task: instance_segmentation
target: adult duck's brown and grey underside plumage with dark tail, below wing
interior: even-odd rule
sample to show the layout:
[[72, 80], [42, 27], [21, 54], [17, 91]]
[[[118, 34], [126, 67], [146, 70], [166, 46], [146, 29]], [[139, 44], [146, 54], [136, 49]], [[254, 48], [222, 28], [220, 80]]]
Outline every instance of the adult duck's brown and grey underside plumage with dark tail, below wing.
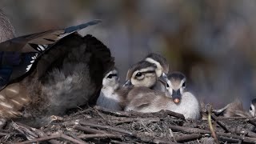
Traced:
[[113, 66], [110, 50], [97, 38], [70, 34], [46, 50], [29, 73], [0, 91], [0, 117], [22, 116], [19, 121], [41, 126], [52, 114], [94, 105], [103, 75]]

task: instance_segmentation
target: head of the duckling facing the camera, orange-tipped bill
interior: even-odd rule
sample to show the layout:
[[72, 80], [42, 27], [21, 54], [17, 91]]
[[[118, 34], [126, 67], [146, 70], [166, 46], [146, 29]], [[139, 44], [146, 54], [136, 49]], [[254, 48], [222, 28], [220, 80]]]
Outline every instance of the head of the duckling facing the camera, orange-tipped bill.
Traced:
[[166, 95], [170, 96], [175, 103], [179, 103], [186, 89], [186, 76], [180, 72], [173, 72], [168, 74], [167, 78]]

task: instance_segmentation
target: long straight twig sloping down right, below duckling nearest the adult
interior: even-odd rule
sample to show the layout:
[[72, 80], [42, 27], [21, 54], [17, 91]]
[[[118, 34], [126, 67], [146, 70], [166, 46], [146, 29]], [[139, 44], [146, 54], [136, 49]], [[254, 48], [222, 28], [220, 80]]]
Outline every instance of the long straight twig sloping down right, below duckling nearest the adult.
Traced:
[[114, 131], [117, 131], [119, 133], [129, 134], [130, 136], [135, 136], [136, 135], [136, 134], [133, 134], [130, 131], [118, 129], [118, 128], [115, 128], [115, 127], [112, 127], [112, 126], [102, 126], [102, 125], [96, 125], [96, 124], [88, 123], [88, 122], [79, 122], [79, 123], [81, 125], [84, 125], [84, 126], [92, 126], [92, 127], [102, 128], [102, 129], [114, 130]]

